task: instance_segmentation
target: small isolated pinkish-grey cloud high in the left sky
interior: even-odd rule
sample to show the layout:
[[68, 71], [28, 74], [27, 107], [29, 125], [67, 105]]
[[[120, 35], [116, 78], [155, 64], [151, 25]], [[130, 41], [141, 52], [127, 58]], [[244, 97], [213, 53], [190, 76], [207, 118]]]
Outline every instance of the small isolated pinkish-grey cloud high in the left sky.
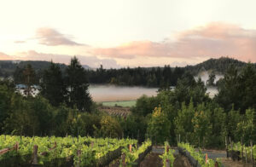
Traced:
[[39, 40], [40, 44], [47, 46], [57, 46], [57, 45], [85, 45], [81, 43], [76, 43], [72, 41], [67, 35], [57, 32], [55, 29], [42, 27], [36, 32], [36, 38]]

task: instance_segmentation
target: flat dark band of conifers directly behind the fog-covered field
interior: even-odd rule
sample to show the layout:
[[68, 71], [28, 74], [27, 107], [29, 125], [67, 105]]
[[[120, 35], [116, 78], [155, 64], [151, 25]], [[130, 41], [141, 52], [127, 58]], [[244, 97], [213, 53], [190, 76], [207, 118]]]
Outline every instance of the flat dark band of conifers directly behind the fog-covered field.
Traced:
[[152, 68], [121, 68], [88, 70], [90, 83], [110, 83], [127, 86], [148, 86], [168, 88], [175, 86], [177, 78], [180, 78], [184, 70], [181, 67], [172, 68], [171, 66], [152, 67]]

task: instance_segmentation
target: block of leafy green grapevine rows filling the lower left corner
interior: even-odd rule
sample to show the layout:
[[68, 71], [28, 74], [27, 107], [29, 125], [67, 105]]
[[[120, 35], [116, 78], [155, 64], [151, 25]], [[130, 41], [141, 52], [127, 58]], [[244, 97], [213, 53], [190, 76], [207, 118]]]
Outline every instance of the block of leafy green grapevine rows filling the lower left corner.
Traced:
[[[137, 147], [131, 139], [91, 137], [24, 137], [0, 135], [1, 166], [105, 166], [114, 159], [136, 164], [150, 151], [151, 141]], [[129, 149], [130, 150], [129, 150]], [[145, 156], [144, 155], [144, 156]], [[121, 159], [122, 160], [122, 159]]]

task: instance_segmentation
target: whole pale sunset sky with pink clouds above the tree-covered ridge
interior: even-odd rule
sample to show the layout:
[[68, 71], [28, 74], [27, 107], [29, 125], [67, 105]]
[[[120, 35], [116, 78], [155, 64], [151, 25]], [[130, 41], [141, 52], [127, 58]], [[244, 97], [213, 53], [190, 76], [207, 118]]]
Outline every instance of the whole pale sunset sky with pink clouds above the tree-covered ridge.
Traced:
[[255, 0], [0, 0], [0, 60], [91, 67], [256, 62]]

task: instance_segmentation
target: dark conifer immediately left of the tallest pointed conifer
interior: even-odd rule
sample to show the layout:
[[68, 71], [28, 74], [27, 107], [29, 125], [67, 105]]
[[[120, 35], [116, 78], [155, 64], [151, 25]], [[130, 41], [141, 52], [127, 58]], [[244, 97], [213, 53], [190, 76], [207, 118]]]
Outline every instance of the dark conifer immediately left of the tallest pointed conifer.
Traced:
[[44, 70], [41, 88], [41, 94], [53, 106], [59, 106], [64, 102], [66, 91], [60, 66], [53, 62], [50, 63], [49, 68]]

